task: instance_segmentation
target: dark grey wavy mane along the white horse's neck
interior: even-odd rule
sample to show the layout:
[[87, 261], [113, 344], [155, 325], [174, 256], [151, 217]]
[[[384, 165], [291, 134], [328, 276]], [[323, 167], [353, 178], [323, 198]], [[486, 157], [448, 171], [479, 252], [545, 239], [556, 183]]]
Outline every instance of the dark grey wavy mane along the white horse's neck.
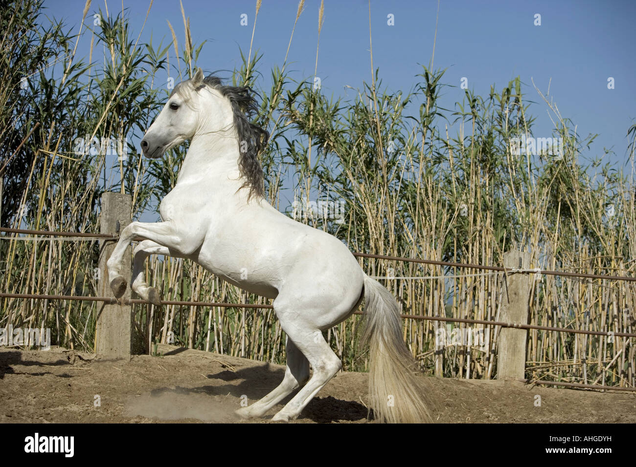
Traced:
[[245, 179], [242, 188], [249, 188], [247, 200], [252, 196], [263, 198], [263, 168], [258, 155], [265, 148], [270, 134], [250, 121], [252, 115], [258, 113], [252, 89], [249, 86], [224, 86], [220, 78], [212, 75], [204, 78], [203, 82], [230, 100], [240, 151], [239, 170]]

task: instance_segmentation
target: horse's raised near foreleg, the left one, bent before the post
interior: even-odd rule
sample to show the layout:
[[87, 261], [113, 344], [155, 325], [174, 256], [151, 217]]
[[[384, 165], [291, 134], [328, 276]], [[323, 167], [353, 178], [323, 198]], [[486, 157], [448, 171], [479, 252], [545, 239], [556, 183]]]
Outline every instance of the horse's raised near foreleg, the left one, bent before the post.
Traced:
[[151, 240], [153, 243], [169, 248], [172, 256], [190, 254], [198, 247], [193, 244], [193, 238], [186, 238], [183, 233], [177, 231], [172, 222], [130, 222], [121, 231], [120, 240], [106, 262], [110, 285], [117, 298], [126, 291], [127, 284], [121, 276], [121, 260], [126, 248], [133, 240]]

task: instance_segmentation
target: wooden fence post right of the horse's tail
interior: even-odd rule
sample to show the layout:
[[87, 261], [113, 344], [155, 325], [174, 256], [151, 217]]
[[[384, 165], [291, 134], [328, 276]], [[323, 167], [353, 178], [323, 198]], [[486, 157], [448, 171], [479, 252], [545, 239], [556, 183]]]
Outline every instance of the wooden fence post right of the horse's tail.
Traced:
[[[504, 267], [528, 269], [530, 253], [511, 251], [504, 254]], [[501, 318], [505, 323], [528, 324], [532, 274], [508, 274], [504, 281]], [[527, 329], [504, 328], [499, 331], [497, 379], [519, 379], [525, 376]]]

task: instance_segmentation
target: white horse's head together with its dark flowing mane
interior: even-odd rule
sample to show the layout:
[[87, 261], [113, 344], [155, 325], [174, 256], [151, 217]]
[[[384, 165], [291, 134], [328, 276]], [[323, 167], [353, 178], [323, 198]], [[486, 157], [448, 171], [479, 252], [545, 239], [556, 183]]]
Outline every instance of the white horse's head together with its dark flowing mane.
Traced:
[[204, 78], [199, 68], [193, 78], [174, 87], [168, 102], [141, 140], [141, 149], [144, 156], [156, 159], [195, 135], [233, 137], [239, 148], [244, 186], [249, 187], [250, 196], [262, 196], [263, 169], [258, 154], [269, 134], [249, 121], [248, 116], [257, 109], [250, 88], [223, 86], [216, 76]]

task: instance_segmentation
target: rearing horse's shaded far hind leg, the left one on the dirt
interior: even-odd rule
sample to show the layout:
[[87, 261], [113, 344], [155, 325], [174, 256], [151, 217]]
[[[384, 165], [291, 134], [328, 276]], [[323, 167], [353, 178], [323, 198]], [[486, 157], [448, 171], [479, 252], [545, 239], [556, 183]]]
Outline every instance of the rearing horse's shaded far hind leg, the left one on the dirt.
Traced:
[[309, 362], [289, 337], [286, 344], [287, 368], [282, 382], [271, 393], [249, 407], [236, 410], [236, 414], [244, 417], [262, 417], [274, 405], [284, 399], [291, 391], [302, 386], [309, 379]]

